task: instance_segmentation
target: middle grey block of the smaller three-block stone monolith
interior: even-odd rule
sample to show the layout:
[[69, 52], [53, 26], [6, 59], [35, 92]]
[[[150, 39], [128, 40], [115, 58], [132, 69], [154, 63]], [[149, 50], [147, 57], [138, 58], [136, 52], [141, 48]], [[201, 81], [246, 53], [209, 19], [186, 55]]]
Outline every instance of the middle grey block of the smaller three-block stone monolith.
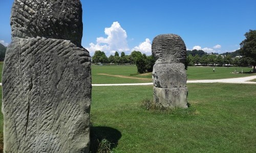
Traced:
[[158, 88], [185, 88], [187, 75], [183, 63], [155, 64], [153, 83]]

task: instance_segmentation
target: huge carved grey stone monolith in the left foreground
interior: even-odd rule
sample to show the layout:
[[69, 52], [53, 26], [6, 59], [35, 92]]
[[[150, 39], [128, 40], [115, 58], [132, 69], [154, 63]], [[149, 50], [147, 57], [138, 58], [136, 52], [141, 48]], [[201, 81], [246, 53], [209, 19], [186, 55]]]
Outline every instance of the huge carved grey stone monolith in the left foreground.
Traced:
[[79, 0], [15, 0], [3, 70], [4, 152], [89, 152], [91, 57]]

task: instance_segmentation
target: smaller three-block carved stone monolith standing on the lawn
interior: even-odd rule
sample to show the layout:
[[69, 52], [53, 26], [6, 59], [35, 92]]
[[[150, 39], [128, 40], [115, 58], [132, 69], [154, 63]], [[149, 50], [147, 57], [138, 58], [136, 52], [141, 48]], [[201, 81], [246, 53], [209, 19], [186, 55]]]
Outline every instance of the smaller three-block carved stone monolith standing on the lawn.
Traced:
[[154, 102], [163, 108], [187, 108], [186, 46], [180, 36], [159, 35], [152, 43], [156, 59], [152, 78]]

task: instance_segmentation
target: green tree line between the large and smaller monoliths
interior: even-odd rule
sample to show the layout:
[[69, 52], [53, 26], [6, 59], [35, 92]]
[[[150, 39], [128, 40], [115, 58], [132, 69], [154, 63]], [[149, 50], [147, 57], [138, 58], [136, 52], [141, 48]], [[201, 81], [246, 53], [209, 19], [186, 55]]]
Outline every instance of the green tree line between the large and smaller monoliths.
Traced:
[[134, 50], [131, 55], [125, 55], [124, 52], [119, 56], [118, 52], [115, 55], [110, 55], [106, 57], [105, 53], [97, 50], [92, 57], [92, 62], [95, 64], [135, 64], [139, 73], [152, 72], [153, 66], [155, 64], [155, 59], [153, 55], [146, 56], [139, 51]]

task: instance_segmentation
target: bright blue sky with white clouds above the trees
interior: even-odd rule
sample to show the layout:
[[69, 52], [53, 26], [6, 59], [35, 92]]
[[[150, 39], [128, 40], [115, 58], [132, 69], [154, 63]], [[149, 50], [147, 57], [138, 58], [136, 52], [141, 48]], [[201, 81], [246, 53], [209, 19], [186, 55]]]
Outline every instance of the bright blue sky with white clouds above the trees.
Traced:
[[[13, 1], [0, 0], [0, 42], [11, 42]], [[93, 56], [101, 50], [129, 55], [133, 50], [151, 55], [159, 34], [178, 34], [187, 49], [225, 53], [239, 48], [244, 34], [256, 29], [255, 0], [81, 0], [82, 46]]]

